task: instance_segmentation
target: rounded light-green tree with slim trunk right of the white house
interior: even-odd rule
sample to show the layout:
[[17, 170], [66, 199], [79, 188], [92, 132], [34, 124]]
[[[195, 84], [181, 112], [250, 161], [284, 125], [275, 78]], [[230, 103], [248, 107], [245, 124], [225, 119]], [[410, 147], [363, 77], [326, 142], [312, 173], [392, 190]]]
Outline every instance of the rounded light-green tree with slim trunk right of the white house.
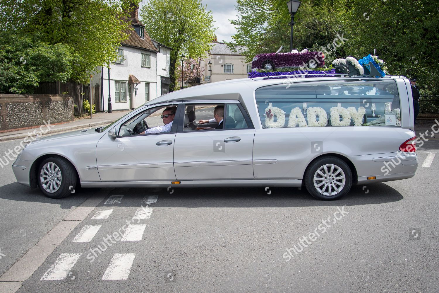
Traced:
[[150, 0], [140, 11], [149, 35], [173, 48], [170, 54], [171, 90], [176, 84], [176, 65], [183, 53], [186, 58], [205, 57], [215, 29], [212, 11], [201, 0]]

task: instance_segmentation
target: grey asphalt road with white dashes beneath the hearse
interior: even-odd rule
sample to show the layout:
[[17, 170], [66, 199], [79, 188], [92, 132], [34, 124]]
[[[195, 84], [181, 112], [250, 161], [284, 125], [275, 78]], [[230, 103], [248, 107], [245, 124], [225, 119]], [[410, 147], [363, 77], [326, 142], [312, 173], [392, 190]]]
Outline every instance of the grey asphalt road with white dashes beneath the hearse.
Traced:
[[[0, 152], [18, 143], [2, 142]], [[439, 160], [421, 166], [438, 140], [417, 152], [415, 177], [355, 186], [331, 202], [297, 188], [83, 188], [55, 200], [16, 183], [8, 165], [0, 168], [0, 275], [101, 192], [17, 292], [438, 292]], [[146, 204], [130, 235], [106, 245], [103, 237], [117, 236]], [[92, 218], [103, 211], [108, 218]], [[316, 230], [287, 262], [287, 248]]]

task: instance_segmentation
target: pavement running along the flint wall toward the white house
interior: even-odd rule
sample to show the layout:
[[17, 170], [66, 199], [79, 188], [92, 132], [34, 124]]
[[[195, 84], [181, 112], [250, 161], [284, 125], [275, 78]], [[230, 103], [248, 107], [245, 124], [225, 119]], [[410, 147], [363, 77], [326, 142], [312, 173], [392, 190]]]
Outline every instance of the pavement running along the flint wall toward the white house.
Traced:
[[5, 132], [0, 134], [0, 141], [11, 141], [14, 139], [21, 139], [21, 138], [29, 137], [31, 136], [30, 134], [33, 133], [38, 133], [41, 135], [49, 135], [59, 132], [66, 132], [70, 130], [78, 130], [83, 128], [108, 125], [129, 112], [131, 111], [129, 110], [129, 111], [113, 111], [112, 113], [96, 113], [93, 114], [93, 118], [90, 117], [76, 118], [75, 121], [72, 122], [57, 124], [54, 125], [53, 127], [50, 126], [50, 130], [43, 124], [42, 129], [44, 131], [47, 131], [45, 134], [41, 134], [40, 126], [35, 128], [25, 129], [25, 130]]

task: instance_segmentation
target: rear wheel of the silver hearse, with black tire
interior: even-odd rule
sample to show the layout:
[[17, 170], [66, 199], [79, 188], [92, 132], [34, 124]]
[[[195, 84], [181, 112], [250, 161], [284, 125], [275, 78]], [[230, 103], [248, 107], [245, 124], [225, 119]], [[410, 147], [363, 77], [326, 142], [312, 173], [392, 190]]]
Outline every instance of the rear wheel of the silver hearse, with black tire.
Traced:
[[[326, 170], [324, 166], [326, 166]], [[331, 169], [331, 166], [335, 167]], [[320, 173], [317, 170], [320, 170]], [[314, 178], [319, 178], [319, 180], [314, 180]], [[316, 199], [341, 199], [352, 187], [352, 171], [342, 159], [335, 156], [323, 156], [311, 163], [306, 169], [305, 186], [309, 194]]]

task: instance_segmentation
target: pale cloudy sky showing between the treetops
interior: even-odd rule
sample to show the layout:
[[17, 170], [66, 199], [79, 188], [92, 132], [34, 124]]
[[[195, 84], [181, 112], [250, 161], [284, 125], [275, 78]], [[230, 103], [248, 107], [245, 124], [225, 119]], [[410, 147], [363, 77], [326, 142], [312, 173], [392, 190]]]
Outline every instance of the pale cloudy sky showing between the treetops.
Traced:
[[[147, 2], [148, 0], [142, 0], [140, 8]], [[216, 29], [217, 40], [230, 42], [232, 35], [236, 33], [236, 29], [229, 22], [229, 19], [237, 19], [236, 0], [202, 0], [202, 4], [207, 5], [207, 11], [212, 11], [214, 27], [218, 28]]]

